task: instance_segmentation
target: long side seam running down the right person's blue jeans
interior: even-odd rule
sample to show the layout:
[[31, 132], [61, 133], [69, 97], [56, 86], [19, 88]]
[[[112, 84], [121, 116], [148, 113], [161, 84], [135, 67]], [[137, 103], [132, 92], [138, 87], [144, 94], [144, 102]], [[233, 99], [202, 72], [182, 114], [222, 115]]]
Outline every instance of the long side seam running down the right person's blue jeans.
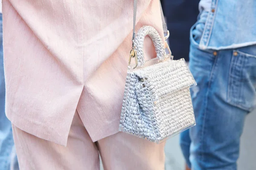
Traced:
[[[213, 65], [212, 65], [212, 70], [211, 70], [211, 73], [209, 75], [209, 82], [208, 82], [208, 88], [207, 88], [207, 92], [206, 92], [206, 96], [205, 96], [205, 108], [204, 108], [204, 120], [203, 120], [203, 125], [202, 125], [202, 132], [201, 132], [201, 149], [204, 150], [204, 144], [203, 144], [203, 139], [204, 139], [204, 127], [205, 127], [205, 120], [206, 120], [206, 116], [207, 116], [207, 108], [208, 108], [208, 100], [209, 100], [209, 91], [210, 91], [210, 87], [212, 85], [212, 77], [214, 75], [214, 70], [215, 68], [217, 67], [217, 60], [218, 60], [218, 55], [215, 56], [215, 59], [214, 59], [214, 62], [213, 62]], [[201, 153], [201, 160], [200, 161], [203, 161], [204, 159], [204, 154]]]

